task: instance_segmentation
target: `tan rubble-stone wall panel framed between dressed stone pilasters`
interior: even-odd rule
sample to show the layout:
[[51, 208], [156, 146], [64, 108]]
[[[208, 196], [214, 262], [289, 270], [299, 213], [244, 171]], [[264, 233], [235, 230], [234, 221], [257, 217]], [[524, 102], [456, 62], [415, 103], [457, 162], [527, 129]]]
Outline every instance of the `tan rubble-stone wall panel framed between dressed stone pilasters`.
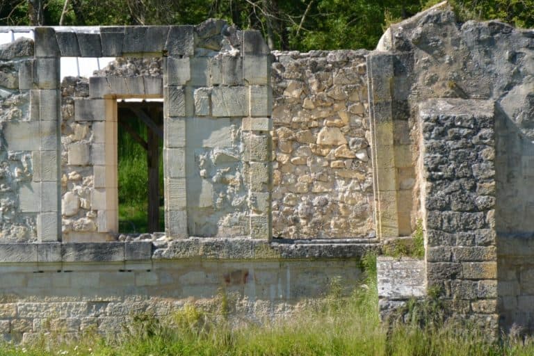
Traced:
[[366, 52], [274, 54], [273, 236], [374, 236]]

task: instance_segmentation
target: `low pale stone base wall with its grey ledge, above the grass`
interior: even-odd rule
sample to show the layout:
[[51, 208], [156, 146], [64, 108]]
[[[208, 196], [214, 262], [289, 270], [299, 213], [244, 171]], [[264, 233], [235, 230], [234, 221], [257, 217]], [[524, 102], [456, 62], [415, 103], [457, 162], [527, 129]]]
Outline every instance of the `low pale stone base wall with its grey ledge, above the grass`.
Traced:
[[187, 303], [218, 310], [223, 294], [241, 320], [290, 316], [334, 279], [350, 293], [362, 273], [357, 256], [373, 250], [232, 238], [0, 247], [0, 337], [24, 342], [121, 332], [135, 315], [164, 318]]

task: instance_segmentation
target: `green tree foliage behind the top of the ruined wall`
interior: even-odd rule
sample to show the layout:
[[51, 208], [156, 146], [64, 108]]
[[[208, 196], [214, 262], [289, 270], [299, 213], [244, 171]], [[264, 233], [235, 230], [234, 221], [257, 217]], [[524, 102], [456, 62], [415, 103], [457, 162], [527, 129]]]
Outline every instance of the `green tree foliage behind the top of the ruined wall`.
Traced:
[[[65, 1], [67, 1], [65, 5]], [[421, 2], [423, 1], [423, 2]], [[259, 29], [273, 49], [372, 49], [383, 29], [437, 0], [0, 0], [0, 25], [197, 24]], [[534, 26], [534, 0], [451, 0], [459, 18]]]

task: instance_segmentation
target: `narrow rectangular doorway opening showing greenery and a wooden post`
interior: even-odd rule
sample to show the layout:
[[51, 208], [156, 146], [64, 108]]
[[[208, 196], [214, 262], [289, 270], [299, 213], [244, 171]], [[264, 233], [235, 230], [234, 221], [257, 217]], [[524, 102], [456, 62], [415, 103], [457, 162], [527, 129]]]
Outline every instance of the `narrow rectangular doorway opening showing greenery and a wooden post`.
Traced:
[[117, 112], [119, 232], [163, 232], [163, 102], [119, 100]]

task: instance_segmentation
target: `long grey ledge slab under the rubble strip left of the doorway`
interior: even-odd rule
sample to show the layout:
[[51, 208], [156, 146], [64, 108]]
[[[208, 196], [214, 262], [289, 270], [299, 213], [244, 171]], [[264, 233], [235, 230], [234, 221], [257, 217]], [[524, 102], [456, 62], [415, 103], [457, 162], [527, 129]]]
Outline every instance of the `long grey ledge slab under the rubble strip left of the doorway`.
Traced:
[[124, 261], [124, 243], [63, 243], [61, 259], [64, 262]]

